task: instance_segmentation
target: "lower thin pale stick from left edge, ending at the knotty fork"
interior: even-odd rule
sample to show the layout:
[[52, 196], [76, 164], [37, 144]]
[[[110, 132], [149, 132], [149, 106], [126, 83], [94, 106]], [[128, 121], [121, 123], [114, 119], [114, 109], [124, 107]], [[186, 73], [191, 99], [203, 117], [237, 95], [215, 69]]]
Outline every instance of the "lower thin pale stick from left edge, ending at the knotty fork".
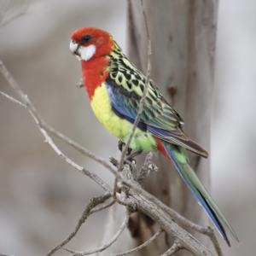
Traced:
[[69, 165], [73, 166], [76, 170], [78, 170], [79, 172], [82, 172], [83, 174], [85, 174], [86, 176], [90, 177], [92, 180], [94, 180], [98, 185], [100, 185], [102, 187], [102, 189], [104, 189], [105, 191], [107, 191], [108, 193], [112, 194], [112, 189], [108, 186], [107, 183], [104, 183], [102, 181], [102, 179], [100, 177], [98, 177], [95, 173], [93, 172], [89, 172], [88, 170], [86, 170], [84, 167], [79, 166], [78, 164], [74, 163], [73, 160], [70, 160], [65, 154], [63, 154], [61, 152], [61, 150], [55, 145], [55, 143], [53, 143], [52, 139], [49, 137], [49, 135], [47, 134], [47, 132], [44, 130], [44, 128], [40, 125], [40, 122], [38, 120], [38, 118], [36, 117], [36, 115], [32, 112], [32, 109], [27, 107], [25, 104], [15, 100], [15, 98], [3, 93], [2, 91], [0, 91], [0, 94], [2, 96], [7, 97], [11, 102], [15, 102], [16, 104], [18, 104], [20, 107], [26, 108], [26, 110], [31, 113], [32, 118], [35, 120], [36, 124], [38, 125], [39, 130], [43, 133], [44, 138], [45, 138], [45, 142], [49, 143], [49, 145], [51, 146], [51, 148], [53, 148], [55, 150], [55, 153], [58, 154], [62, 160], [65, 160]]

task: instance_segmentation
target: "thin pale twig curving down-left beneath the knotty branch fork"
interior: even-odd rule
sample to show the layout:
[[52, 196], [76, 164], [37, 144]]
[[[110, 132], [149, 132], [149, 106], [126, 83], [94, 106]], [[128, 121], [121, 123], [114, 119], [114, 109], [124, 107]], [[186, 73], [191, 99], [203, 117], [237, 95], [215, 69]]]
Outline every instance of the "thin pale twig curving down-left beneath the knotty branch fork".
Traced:
[[96, 248], [96, 249], [93, 249], [93, 250], [90, 250], [90, 251], [86, 251], [86, 252], [73, 252], [71, 250], [68, 250], [68, 252], [73, 253], [72, 256], [84, 256], [84, 255], [104, 251], [105, 249], [110, 247], [113, 244], [113, 242], [116, 241], [119, 238], [119, 236], [123, 233], [123, 231], [125, 230], [125, 227], [128, 224], [128, 220], [129, 220], [129, 214], [126, 213], [125, 214], [125, 219], [124, 219], [123, 223], [121, 224], [121, 226], [119, 227], [119, 230], [117, 231], [117, 233], [112, 237], [112, 239], [110, 241], [108, 241], [102, 247], [99, 247], [99, 248]]

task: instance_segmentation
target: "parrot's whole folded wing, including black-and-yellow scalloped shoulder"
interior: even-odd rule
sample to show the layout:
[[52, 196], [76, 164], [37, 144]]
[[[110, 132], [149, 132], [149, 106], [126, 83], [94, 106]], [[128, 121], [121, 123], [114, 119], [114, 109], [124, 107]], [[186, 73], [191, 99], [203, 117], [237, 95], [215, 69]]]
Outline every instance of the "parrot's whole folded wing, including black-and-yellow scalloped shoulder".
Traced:
[[[111, 98], [113, 111], [119, 117], [134, 123], [143, 96], [145, 77], [136, 69], [127, 68], [127, 63], [125, 65], [125, 68], [113, 68], [105, 84]], [[151, 79], [148, 85], [138, 127], [166, 142], [183, 146], [195, 154], [207, 157], [207, 151], [191, 141], [183, 132], [183, 119], [166, 102], [166, 99], [160, 94], [160, 90]]]

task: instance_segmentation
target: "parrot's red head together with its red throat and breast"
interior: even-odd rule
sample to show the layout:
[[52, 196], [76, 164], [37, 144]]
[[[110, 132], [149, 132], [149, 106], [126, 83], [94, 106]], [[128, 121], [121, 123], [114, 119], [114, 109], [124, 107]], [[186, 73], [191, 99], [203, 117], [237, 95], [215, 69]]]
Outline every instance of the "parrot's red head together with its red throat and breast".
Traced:
[[82, 64], [84, 86], [90, 100], [98, 86], [108, 78], [109, 55], [114, 48], [108, 32], [95, 27], [82, 27], [73, 32], [70, 50]]

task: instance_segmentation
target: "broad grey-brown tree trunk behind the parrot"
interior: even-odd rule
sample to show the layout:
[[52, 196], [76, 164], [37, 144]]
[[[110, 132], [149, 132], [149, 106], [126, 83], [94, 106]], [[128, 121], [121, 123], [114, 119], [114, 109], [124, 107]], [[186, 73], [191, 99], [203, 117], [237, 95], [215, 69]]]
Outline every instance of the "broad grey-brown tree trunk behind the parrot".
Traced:
[[[209, 150], [218, 1], [144, 0], [144, 5], [152, 43], [150, 77], [183, 118], [184, 131]], [[146, 73], [147, 67], [147, 44], [141, 3], [129, 0], [127, 55], [143, 73]], [[189, 154], [189, 159], [201, 182], [209, 188], [210, 160], [195, 154]], [[143, 160], [141, 157], [139, 161]], [[154, 163], [160, 171], [150, 174], [144, 188], [184, 217], [205, 226], [208, 223], [206, 212], [196, 203], [175, 167], [160, 154]], [[124, 216], [122, 211], [116, 206], [109, 212], [107, 222], [113, 219], [113, 214]], [[112, 223], [105, 230], [102, 242], [110, 239], [118, 229], [120, 223]], [[158, 228], [146, 216], [133, 213], [129, 229], [132, 237], [126, 232], [102, 255], [137, 247]], [[204, 236], [189, 231], [204, 244], [207, 243]], [[171, 245], [171, 237], [160, 236], [142, 251], [130, 255], [160, 255]]]

